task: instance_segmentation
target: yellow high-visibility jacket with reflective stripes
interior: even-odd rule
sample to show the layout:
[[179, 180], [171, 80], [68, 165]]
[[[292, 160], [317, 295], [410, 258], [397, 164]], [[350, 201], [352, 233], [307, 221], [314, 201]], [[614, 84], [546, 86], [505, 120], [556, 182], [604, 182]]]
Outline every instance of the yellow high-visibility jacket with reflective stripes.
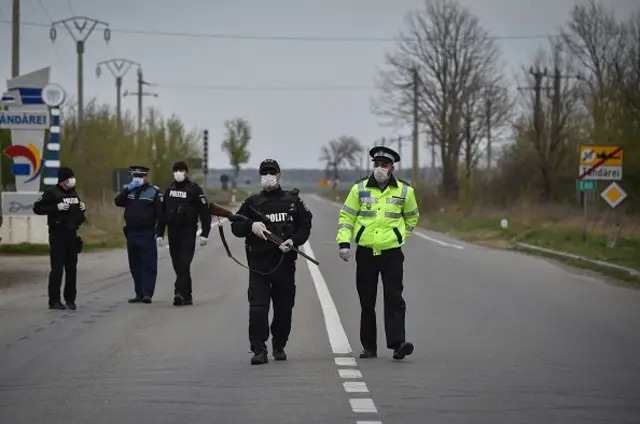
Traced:
[[336, 242], [340, 248], [349, 248], [353, 240], [378, 255], [404, 245], [419, 217], [409, 183], [392, 175], [381, 191], [373, 176], [363, 178], [351, 187], [340, 209]]

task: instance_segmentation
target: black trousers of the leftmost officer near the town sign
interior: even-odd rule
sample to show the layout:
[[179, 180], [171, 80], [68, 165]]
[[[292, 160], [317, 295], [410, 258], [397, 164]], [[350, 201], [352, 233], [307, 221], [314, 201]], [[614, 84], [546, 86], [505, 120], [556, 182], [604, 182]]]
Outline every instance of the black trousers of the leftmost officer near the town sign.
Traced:
[[64, 281], [65, 302], [75, 302], [78, 276], [78, 233], [75, 230], [52, 229], [49, 231], [49, 305], [60, 302], [62, 274]]

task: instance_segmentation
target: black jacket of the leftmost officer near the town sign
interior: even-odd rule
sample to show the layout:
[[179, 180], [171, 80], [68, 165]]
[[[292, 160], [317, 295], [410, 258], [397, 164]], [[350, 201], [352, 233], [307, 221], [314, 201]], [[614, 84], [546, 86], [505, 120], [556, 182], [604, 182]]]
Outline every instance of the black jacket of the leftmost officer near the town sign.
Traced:
[[[69, 209], [58, 210], [58, 203], [66, 203]], [[80, 197], [72, 188], [64, 189], [60, 185], [45, 190], [33, 204], [36, 215], [47, 215], [47, 225], [51, 231], [77, 230], [85, 221], [84, 211], [80, 209]]]

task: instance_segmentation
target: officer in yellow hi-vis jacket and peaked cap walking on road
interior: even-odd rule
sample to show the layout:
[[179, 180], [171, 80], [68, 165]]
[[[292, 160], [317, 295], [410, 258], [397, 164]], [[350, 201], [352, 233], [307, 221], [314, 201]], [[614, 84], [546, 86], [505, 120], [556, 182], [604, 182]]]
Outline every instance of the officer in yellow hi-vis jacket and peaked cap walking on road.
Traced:
[[404, 359], [413, 353], [413, 343], [405, 339], [402, 245], [418, 223], [418, 204], [413, 188], [393, 176], [393, 164], [400, 161], [400, 155], [388, 147], [374, 147], [369, 155], [373, 174], [351, 187], [340, 210], [336, 241], [345, 262], [351, 240], [357, 245], [356, 286], [364, 348], [360, 358], [378, 356], [375, 307], [378, 275], [382, 274], [387, 347], [393, 350], [394, 359]]

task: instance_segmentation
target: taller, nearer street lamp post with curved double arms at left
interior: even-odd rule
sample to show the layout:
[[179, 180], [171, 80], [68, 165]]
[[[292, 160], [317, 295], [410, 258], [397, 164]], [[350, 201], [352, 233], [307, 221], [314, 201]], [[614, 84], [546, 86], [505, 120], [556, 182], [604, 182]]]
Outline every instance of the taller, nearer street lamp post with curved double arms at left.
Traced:
[[[78, 130], [81, 130], [84, 122], [84, 48], [85, 43], [93, 30], [98, 26], [104, 26], [104, 41], [108, 43], [111, 40], [111, 30], [109, 24], [96, 19], [87, 18], [85, 16], [73, 16], [71, 18], [62, 19], [51, 23], [49, 37], [52, 42], [56, 41], [58, 32], [57, 25], [63, 25], [71, 38], [76, 42], [76, 53], [78, 54]], [[82, 143], [80, 144], [82, 148]]]

